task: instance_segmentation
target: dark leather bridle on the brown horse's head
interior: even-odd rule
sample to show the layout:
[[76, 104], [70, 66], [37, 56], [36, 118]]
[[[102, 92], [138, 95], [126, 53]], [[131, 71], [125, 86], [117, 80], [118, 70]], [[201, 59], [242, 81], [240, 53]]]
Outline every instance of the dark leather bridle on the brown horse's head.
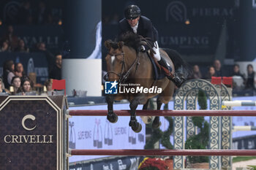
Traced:
[[[125, 62], [124, 62], [124, 54], [125, 53], [124, 52], [121, 52], [121, 53], [110, 53], [110, 52], [108, 52], [108, 54], [110, 56], [115, 56], [115, 58], [116, 58], [117, 55], [122, 55], [121, 72], [117, 73], [117, 72], [109, 71], [107, 74], [105, 74], [104, 80], [108, 80], [109, 74], [112, 73], [112, 74], [116, 74], [119, 77], [119, 79], [118, 79], [119, 83], [125, 82], [127, 80], [127, 77], [129, 76], [131, 70], [133, 69], [133, 67], [135, 67], [136, 63], [137, 63], [137, 65], [140, 64], [139, 63], [139, 55], [137, 53], [135, 61], [132, 63], [132, 66], [130, 66], [128, 71], [125, 72]], [[136, 67], [136, 69], [137, 69], [137, 67]]]

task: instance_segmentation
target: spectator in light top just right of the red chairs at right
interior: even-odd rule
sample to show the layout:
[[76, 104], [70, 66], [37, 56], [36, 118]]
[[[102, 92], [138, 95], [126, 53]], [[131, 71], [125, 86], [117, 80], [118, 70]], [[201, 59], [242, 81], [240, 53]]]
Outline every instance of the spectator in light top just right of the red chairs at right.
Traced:
[[240, 72], [240, 67], [238, 64], [233, 66], [233, 73], [231, 74], [233, 77], [233, 88], [240, 89], [244, 86], [245, 77]]

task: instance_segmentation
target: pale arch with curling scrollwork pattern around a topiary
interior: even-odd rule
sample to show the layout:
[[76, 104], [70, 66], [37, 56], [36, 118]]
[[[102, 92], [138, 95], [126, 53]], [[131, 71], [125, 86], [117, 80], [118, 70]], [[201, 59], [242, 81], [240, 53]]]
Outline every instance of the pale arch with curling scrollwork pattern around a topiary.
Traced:
[[[219, 109], [220, 107], [220, 92], [211, 82], [206, 80], [189, 80], [179, 88], [174, 96], [174, 109], [184, 109], [185, 101], [187, 101], [187, 108], [195, 107], [195, 98], [198, 90], [203, 90], [206, 96], [210, 99], [210, 109]], [[194, 104], [192, 104], [194, 102]], [[189, 118], [188, 118], [189, 120]], [[210, 147], [213, 149], [219, 149], [219, 119], [218, 117], [211, 117], [211, 134]], [[175, 117], [174, 119], [174, 148], [184, 149], [184, 137], [178, 136], [184, 132], [184, 119], [182, 117]], [[191, 125], [192, 126], [192, 125]], [[189, 127], [190, 128], [190, 127]], [[177, 133], [176, 133], [177, 132]], [[182, 133], [181, 133], [182, 132]], [[190, 133], [190, 132], [189, 132]], [[176, 141], [178, 140], [178, 141]], [[175, 156], [173, 161], [174, 169], [184, 169], [183, 156]], [[219, 167], [219, 158], [211, 157], [210, 169], [216, 169]]]

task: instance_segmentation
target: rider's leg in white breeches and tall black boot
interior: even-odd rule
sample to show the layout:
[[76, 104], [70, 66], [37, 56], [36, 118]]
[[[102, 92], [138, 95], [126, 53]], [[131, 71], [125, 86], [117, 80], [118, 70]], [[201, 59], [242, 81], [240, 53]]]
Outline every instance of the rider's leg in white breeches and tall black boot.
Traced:
[[167, 61], [165, 61], [165, 58], [161, 58], [160, 56], [160, 53], [159, 53], [159, 47], [158, 47], [158, 43], [157, 42], [154, 42], [154, 47], [153, 47], [153, 50], [154, 50], [154, 58], [157, 59], [157, 62], [159, 63], [160, 66], [163, 66], [165, 69], [167, 69], [167, 71], [169, 72], [168, 74], [166, 74], [166, 77], [173, 81], [174, 84], [179, 88], [181, 87], [182, 83], [184, 82], [184, 80], [181, 80], [180, 77], [178, 77], [178, 75], [175, 73], [175, 74], [171, 74], [172, 72], [172, 69], [170, 67], [170, 65], [167, 63]]

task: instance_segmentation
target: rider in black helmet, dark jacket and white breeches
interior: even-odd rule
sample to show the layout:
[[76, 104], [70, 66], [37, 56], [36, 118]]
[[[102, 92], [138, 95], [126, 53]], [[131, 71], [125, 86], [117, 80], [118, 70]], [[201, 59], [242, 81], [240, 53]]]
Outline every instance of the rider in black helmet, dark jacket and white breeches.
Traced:
[[[143, 36], [144, 38], [150, 38], [150, 41], [154, 43], [154, 58], [157, 60], [159, 65], [171, 72], [172, 69], [170, 68], [170, 65], [165, 61], [164, 58], [161, 58], [160, 56], [159, 46], [157, 43], [158, 32], [157, 29], [152, 25], [151, 20], [143, 15], [140, 15], [140, 8], [136, 5], [129, 5], [126, 7], [126, 9], [124, 9], [124, 17], [125, 18], [120, 20], [118, 23], [118, 36], [130, 31], [134, 34]], [[146, 47], [141, 45], [139, 50], [141, 52], [145, 52]], [[176, 74], [174, 74], [174, 76], [166, 74], [166, 76], [169, 80], [172, 80], [178, 88], [183, 83], [183, 80], [181, 80], [181, 78], [179, 78]]]

